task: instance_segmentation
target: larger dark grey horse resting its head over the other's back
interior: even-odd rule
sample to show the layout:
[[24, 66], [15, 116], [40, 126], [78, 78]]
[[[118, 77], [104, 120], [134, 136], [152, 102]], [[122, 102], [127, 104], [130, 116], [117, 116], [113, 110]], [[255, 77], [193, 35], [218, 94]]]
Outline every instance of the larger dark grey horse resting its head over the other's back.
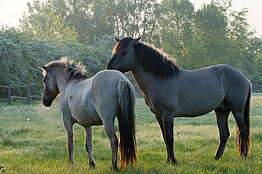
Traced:
[[155, 114], [167, 148], [167, 162], [177, 164], [174, 154], [174, 117], [197, 117], [215, 111], [219, 146], [214, 160], [223, 156], [229, 137], [228, 116], [236, 121], [238, 155], [250, 152], [251, 84], [238, 70], [215, 65], [184, 70], [153, 45], [140, 37], [118, 39], [106, 70], [131, 71], [143, 92], [145, 103]]

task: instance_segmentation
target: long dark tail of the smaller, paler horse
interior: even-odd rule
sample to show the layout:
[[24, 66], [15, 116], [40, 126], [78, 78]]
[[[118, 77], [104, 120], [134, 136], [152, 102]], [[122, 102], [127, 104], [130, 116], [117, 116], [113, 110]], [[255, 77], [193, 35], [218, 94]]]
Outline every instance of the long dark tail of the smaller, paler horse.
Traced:
[[118, 84], [119, 108], [119, 150], [120, 167], [127, 168], [131, 162], [136, 167], [136, 142], [135, 142], [135, 94], [129, 81], [120, 80]]

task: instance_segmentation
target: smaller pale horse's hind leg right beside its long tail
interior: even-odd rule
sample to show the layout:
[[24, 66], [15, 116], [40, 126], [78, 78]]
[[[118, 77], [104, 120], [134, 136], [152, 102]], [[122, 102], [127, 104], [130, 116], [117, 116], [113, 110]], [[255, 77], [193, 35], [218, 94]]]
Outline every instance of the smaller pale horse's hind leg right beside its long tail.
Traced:
[[112, 150], [112, 166], [111, 169], [117, 171], [117, 153], [118, 153], [118, 138], [115, 133], [114, 121], [104, 122], [105, 132], [110, 140]]

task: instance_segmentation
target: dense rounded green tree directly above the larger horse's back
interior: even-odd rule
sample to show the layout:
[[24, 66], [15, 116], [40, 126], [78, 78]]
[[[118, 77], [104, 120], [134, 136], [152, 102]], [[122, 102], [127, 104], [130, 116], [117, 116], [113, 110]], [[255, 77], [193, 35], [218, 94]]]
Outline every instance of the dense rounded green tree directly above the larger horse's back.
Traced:
[[227, 16], [213, 1], [203, 4], [194, 15], [193, 37], [178, 62], [187, 69], [228, 64]]

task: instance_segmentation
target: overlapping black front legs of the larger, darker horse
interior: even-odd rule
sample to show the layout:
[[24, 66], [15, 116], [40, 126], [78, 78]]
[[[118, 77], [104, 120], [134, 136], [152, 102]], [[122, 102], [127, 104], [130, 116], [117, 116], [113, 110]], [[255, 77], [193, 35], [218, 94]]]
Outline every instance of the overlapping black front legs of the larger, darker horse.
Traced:
[[167, 162], [170, 160], [173, 164], [177, 164], [177, 159], [174, 154], [174, 116], [170, 113], [163, 114], [162, 118], [156, 115], [156, 119], [161, 128], [163, 138], [167, 147]]

